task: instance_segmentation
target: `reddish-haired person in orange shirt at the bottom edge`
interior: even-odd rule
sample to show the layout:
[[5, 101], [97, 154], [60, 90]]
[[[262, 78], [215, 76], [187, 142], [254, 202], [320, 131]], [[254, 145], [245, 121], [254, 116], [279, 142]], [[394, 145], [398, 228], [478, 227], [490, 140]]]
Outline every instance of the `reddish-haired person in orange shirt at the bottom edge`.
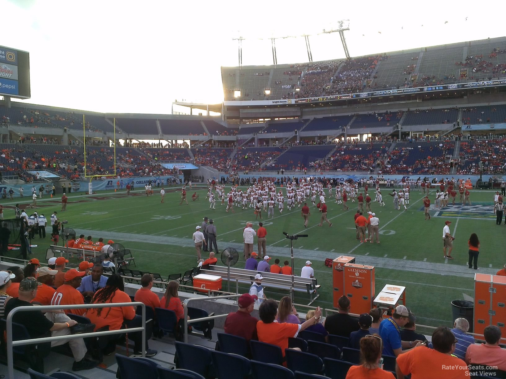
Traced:
[[351, 366], [346, 379], [395, 379], [390, 371], [383, 370], [383, 341], [375, 335], [368, 335], [360, 339], [360, 355], [363, 362], [358, 366]]

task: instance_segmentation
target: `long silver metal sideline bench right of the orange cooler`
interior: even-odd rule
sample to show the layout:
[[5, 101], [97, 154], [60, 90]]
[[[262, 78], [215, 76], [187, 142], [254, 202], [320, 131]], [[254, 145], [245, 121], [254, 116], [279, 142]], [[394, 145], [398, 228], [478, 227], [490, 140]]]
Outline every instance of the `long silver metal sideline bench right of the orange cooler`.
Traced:
[[[201, 268], [200, 273], [221, 276], [223, 280], [227, 280], [227, 267], [209, 265], [208, 268]], [[291, 290], [291, 276], [283, 274], [274, 274], [271, 272], [259, 272], [255, 270], [245, 270], [242, 268], [230, 267], [230, 281], [237, 283], [246, 283], [251, 285], [255, 281], [255, 275], [261, 274], [263, 277], [262, 285], [264, 287], [278, 288], [282, 290]], [[320, 286], [316, 282], [316, 278], [304, 278], [294, 276], [293, 290], [297, 292], [305, 292], [308, 294], [309, 303], [311, 305], [318, 296]]]

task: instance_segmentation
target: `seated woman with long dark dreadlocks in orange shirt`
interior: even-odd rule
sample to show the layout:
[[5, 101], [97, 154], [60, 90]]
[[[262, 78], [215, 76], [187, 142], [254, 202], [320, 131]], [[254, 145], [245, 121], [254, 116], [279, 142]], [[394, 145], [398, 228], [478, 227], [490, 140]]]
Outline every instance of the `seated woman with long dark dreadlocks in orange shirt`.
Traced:
[[[124, 292], [124, 283], [121, 276], [113, 274], [107, 279], [104, 288], [98, 290], [92, 299], [92, 304], [110, 304], [110, 303], [131, 303], [132, 300]], [[109, 326], [109, 330], [119, 330], [126, 327], [142, 326], [142, 316], [135, 314], [133, 306], [126, 307], [104, 307], [90, 308], [86, 313], [86, 317], [95, 324], [95, 330]], [[124, 326], [123, 326], [124, 325]], [[149, 329], [149, 328], [148, 328]], [[148, 349], [148, 339], [151, 333], [146, 331], [146, 356], [152, 357], [156, 355], [156, 350]], [[109, 338], [114, 338], [110, 336]], [[142, 351], [142, 333], [137, 331], [129, 333], [129, 339], [135, 343], [134, 354], [141, 354]]]

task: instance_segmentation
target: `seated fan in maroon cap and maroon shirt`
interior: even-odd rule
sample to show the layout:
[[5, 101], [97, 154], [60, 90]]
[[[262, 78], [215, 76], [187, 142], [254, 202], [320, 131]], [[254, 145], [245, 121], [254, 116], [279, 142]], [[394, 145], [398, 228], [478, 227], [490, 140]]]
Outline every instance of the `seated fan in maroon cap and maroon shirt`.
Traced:
[[243, 294], [239, 297], [239, 310], [229, 313], [225, 319], [225, 333], [242, 337], [246, 341], [258, 340], [258, 319], [251, 316], [256, 301], [255, 295]]

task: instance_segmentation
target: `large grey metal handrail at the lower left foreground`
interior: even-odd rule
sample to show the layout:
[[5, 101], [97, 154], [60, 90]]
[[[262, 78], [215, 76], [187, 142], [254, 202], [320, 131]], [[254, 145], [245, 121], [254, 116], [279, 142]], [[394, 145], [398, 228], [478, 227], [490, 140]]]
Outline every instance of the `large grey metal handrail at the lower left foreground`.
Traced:
[[[43, 337], [43, 338], [34, 338], [30, 340], [12, 340], [12, 318], [18, 312], [23, 311], [47, 311], [51, 312], [53, 310], [62, 310], [62, 309], [89, 309], [89, 308], [117, 308], [117, 307], [129, 307], [129, 306], [141, 306], [142, 308], [142, 323], [140, 327], [134, 328], [125, 328], [119, 330], [106, 330], [106, 331], [95, 331], [93, 333], [81, 333], [76, 335], [68, 335], [68, 336], [54, 336], [54, 337]], [[140, 331], [142, 333], [142, 356], [145, 357], [146, 354], [146, 305], [141, 302], [132, 302], [132, 303], [109, 303], [109, 304], [78, 304], [78, 305], [41, 305], [41, 306], [24, 306], [14, 308], [7, 315], [7, 368], [9, 379], [14, 379], [14, 352], [13, 346], [22, 346], [22, 345], [33, 345], [44, 342], [52, 342], [52, 341], [62, 341], [62, 340], [77, 340], [85, 337], [96, 337], [96, 336], [105, 336], [105, 335], [115, 335], [115, 334], [124, 334], [129, 331]]]

